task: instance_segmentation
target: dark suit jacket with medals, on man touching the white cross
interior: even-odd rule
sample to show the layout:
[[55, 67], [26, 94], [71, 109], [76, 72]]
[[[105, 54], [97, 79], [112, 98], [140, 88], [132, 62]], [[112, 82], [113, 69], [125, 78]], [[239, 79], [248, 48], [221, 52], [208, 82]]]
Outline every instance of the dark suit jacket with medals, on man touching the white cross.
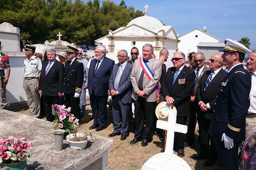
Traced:
[[168, 95], [175, 100], [173, 104], [177, 109], [177, 116], [187, 116], [190, 95], [195, 82], [195, 71], [185, 65], [172, 85], [175, 72], [175, 67], [168, 69], [161, 91], [164, 98]]

